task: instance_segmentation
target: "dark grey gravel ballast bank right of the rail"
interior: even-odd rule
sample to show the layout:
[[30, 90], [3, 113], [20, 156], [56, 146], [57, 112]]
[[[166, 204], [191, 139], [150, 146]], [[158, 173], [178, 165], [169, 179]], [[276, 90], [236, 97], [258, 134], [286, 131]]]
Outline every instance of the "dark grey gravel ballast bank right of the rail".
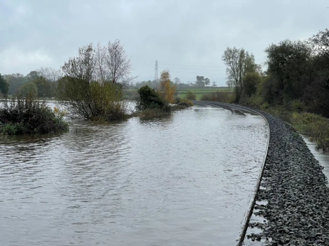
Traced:
[[329, 245], [329, 188], [322, 167], [305, 142], [289, 125], [267, 113], [270, 142], [255, 215], [267, 219], [261, 234], [251, 240], [271, 238], [266, 245]]

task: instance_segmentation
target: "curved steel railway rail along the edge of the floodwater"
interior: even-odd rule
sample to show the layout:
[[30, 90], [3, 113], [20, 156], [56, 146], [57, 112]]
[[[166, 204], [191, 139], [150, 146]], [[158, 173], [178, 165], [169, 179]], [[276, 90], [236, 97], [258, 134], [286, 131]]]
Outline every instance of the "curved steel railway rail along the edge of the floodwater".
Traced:
[[253, 192], [252, 192], [252, 197], [250, 199], [247, 212], [245, 213], [242, 224], [241, 224], [241, 231], [240, 231], [239, 238], [236, 240], [237, 241], [236, 246], [241, 246], [241, 245], [243, 245], [243, 241], [244, 241], [244, 238], [246, 236], [246, 232], [247, 232], [247, 229], [248, 229], [248, 224], [249, 224], [249, 221], [250, 221], [250, 217], [252, 215], [253, 208], [254, 208], [255, 203], [256, 203], [257, 192], [258, 192], [258, 190], [261, 186], [261, 181], [262, 181], [262, 177], [263, 177], [263, 173], [264, 173], [264, 169], [265, 169], [265, 161], [266, 161], [266, 157], [267, 157], [268, 146], [269, 146], [269, 138], [270, 138], [270, 130], [269, 130], [268, 121], [264, 117], [264, 115], [262, 115], [260, 112], [255, 111], [253, 109], [243, 107], [243, 106], [233, 105], [233, 104], [225, 104], [225, 103], [217, 103], [217, 102], [214, 102], [214, 101], [197, 101], [197, 100], [192, 100], [192, 101], [193, 101], [193, 104], [195, 104], [195, 105], [220, 107], [220, 108], [230, 110], [232, 113], [234, 113], [234, 112], [240, 112], [240, 113], [252, 112], [252, 113], [255, 113], [257, 115], [262, 116], [263, 119], [265, 119], [265, 121], [266, 121], [267, 130], [268, 130], [266, 152], [265, 152], [265, 155], [264, 155], [264, 159], [263, 159], [263, 163], [262, 163], [262, 167], [261, 167], [261, 172], [258, 176], [257, 183], [255, 185], [255, 188], [254, 188]]

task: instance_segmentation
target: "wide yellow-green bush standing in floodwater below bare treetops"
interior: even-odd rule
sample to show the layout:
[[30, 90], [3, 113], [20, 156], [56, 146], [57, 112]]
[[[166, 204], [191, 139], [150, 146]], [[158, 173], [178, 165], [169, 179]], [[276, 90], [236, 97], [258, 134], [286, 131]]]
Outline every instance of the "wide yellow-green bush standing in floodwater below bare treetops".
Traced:
[[129, 117], [119, 85], [65, 76], [59, 80], [57, 100], [72, 118], [96, 121], [122, 120]]

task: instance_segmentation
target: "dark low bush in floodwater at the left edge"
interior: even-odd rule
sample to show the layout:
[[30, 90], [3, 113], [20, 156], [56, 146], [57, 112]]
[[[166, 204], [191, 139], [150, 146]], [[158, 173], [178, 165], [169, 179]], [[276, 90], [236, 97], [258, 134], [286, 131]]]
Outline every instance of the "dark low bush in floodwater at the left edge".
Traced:
[[63, 113], [53, 112], [46, 103], [39, 103], [33, 93], [26, 97], [22, 94], [12, 97], [0, 107], [0, 134], [23, 135], [33, 133], [55, 133], [67, 131], [68, 124]]

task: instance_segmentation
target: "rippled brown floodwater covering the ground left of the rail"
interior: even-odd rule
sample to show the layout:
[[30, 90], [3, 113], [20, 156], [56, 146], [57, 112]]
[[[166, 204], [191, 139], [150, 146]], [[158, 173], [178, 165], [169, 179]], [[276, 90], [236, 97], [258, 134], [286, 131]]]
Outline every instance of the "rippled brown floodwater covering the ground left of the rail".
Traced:
[[267, 134], [260, 116], [195, 106], [0, 137], [0, 244], [234, 245]]

